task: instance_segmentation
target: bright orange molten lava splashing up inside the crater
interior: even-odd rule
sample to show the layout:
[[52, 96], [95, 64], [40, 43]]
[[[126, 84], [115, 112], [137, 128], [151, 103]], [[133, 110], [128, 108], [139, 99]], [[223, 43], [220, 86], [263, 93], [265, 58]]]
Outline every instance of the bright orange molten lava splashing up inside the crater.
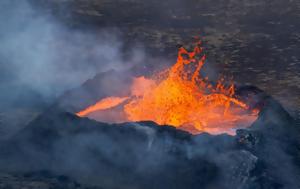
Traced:
[[130, 96], [104, 98], [77, 115], [122, 106], [123, 121], [151, 120], [192, 134], [234, 134], [235, 129], [249, 126], [257, 112], [235, 97], [232, 82], [225, 85], [222, 78], [212, 84], [201, 76], [205, 58], [200, 42], [192, 52], [181, 47], [171, 68], [151, 78], [135, 78]]

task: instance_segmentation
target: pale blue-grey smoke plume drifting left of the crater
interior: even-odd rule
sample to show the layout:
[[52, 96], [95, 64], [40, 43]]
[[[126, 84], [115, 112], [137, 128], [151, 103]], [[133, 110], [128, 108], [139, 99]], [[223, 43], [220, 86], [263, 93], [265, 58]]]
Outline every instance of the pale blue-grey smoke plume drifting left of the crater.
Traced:
[[126, 70], [145, 59], [142, 46], [123, 53], [118, 28], [71, 29], [27, 0], [0, 2], [0, 41], [3, 133], [26, 125], [95, 74]]

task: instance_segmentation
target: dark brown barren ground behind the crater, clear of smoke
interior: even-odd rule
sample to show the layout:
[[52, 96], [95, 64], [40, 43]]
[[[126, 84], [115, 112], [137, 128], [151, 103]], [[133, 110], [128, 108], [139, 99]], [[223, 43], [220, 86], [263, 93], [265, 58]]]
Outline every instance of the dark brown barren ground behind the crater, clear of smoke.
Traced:
[[291, 113], [299, 113], [297, 0], [32, 1], [71, 28], [117, 27], [126, 43], [142, 43], [153, 56], [172, 63], [178, 44], [201, 35], [208, 59], [222, 72], [239, 83], [258, 86]]

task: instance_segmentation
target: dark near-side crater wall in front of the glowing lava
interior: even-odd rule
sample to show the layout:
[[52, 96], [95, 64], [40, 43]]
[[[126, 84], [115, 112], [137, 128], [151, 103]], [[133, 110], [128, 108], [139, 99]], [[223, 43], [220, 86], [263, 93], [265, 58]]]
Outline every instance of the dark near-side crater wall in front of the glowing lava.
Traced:
[[193, 136], [147, 121], [106, 124], [50, 109], [2, 142], [0, 167], [103, 188], [297, 188], [298, 128], [256, 92], [264, 97], [259, 118], [236, 136]]

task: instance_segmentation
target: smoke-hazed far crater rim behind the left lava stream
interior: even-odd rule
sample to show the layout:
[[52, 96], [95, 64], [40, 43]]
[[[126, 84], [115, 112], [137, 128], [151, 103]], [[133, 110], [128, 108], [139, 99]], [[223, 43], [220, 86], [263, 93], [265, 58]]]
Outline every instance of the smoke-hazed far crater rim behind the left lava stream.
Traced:
[[107, 96], [125, 96], [129, 94], [132, 77], [126, 71], [98, 73], [80, 87], [65, 92], [52, 108], [69, 112], [80, 111]]

